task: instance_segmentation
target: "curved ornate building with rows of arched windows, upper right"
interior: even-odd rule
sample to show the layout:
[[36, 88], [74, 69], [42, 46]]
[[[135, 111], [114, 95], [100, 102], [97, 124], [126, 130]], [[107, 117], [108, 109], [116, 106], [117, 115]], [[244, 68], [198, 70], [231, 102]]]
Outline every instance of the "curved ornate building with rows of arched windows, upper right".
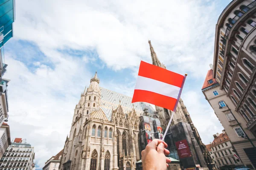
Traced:
[[213, 78], [256, 136], [256, 1], [233, 0], [219, 17]]

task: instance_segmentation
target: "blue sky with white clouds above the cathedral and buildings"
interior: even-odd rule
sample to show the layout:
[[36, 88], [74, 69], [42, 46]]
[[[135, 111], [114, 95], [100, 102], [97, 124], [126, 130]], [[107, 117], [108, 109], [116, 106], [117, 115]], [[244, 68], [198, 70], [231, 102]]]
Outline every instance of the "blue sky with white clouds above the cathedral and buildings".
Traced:
[[151, 62], [151, 40], [167, 69], [188, 74], [181, 97], [203, 142], [212, 142], [223, 127], [201, 87], [213, 60], [215, 24], [229, 2], [16, 1], [14, 37], [4, 47], [12, 139], [35, 147], [41, 169], [63, 148], [95, 71], [101, 87], [132, 96], [140, 60]]

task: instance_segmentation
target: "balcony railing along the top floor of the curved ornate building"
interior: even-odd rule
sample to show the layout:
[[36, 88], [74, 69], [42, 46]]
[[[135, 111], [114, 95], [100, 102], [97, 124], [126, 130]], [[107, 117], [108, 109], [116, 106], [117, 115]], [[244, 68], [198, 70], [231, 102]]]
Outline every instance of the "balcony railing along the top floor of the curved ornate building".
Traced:
[[[231, 23], [228, 24], [227, 29], [226, 29], [226, 31], [225, 31], [224, 38], [223, 38], [221, 54], [223, 54], [223, 55], [225, 54], [226, 42], [227, 42], [227, 38], [228, 38], [228, 36], [229, 36], [229, 34], [230, 34], [230, 30], [231, 30], [232, 26], [236, 23], [237, 20], [239, 20], [239, 18], [240, 18], [241, 16], [243, 16], [243, 15], [246, 14], [248, 11], [250, 11], [250, 9], [253, 8], [254, 6], [256, 6], [256, 0], [246, 6], [246, 8], [248, 8], [247, 11], [240, 10], [240, 12], [242, 13], [242, 15], [241, 15], [241, 14], [238, 14], [238, 15], [236, 15], [235, 17], [233, 17], [232, 20], [230, 20]], [[239, 16], [239, 15], [240, 15], [240, 16]]]

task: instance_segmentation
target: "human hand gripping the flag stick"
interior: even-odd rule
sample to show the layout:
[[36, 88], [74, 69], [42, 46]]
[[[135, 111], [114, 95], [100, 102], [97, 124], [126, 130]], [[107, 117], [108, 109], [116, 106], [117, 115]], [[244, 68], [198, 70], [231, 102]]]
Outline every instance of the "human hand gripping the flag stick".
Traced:
[[166, 170], [168, 163], [171, 163], [171, 159], [165, 156], [170, 154], [166, 147], [166, 142], [162, 143], [160, 139], [150, 142], [141, 152], [143, 170]]

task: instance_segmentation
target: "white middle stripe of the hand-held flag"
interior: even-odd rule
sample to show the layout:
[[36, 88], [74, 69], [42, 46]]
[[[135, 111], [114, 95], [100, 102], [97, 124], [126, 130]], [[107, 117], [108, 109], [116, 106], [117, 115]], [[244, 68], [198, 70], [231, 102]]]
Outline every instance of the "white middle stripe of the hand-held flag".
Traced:
[[155, 79], [138, 76], [137, 83], [135, 86], [136, 90], [151, 91], [164, 96], [169, 96], [177, 99], [180, 88], [175, 85], [170, 85], [165, 82], [160, 82]]

